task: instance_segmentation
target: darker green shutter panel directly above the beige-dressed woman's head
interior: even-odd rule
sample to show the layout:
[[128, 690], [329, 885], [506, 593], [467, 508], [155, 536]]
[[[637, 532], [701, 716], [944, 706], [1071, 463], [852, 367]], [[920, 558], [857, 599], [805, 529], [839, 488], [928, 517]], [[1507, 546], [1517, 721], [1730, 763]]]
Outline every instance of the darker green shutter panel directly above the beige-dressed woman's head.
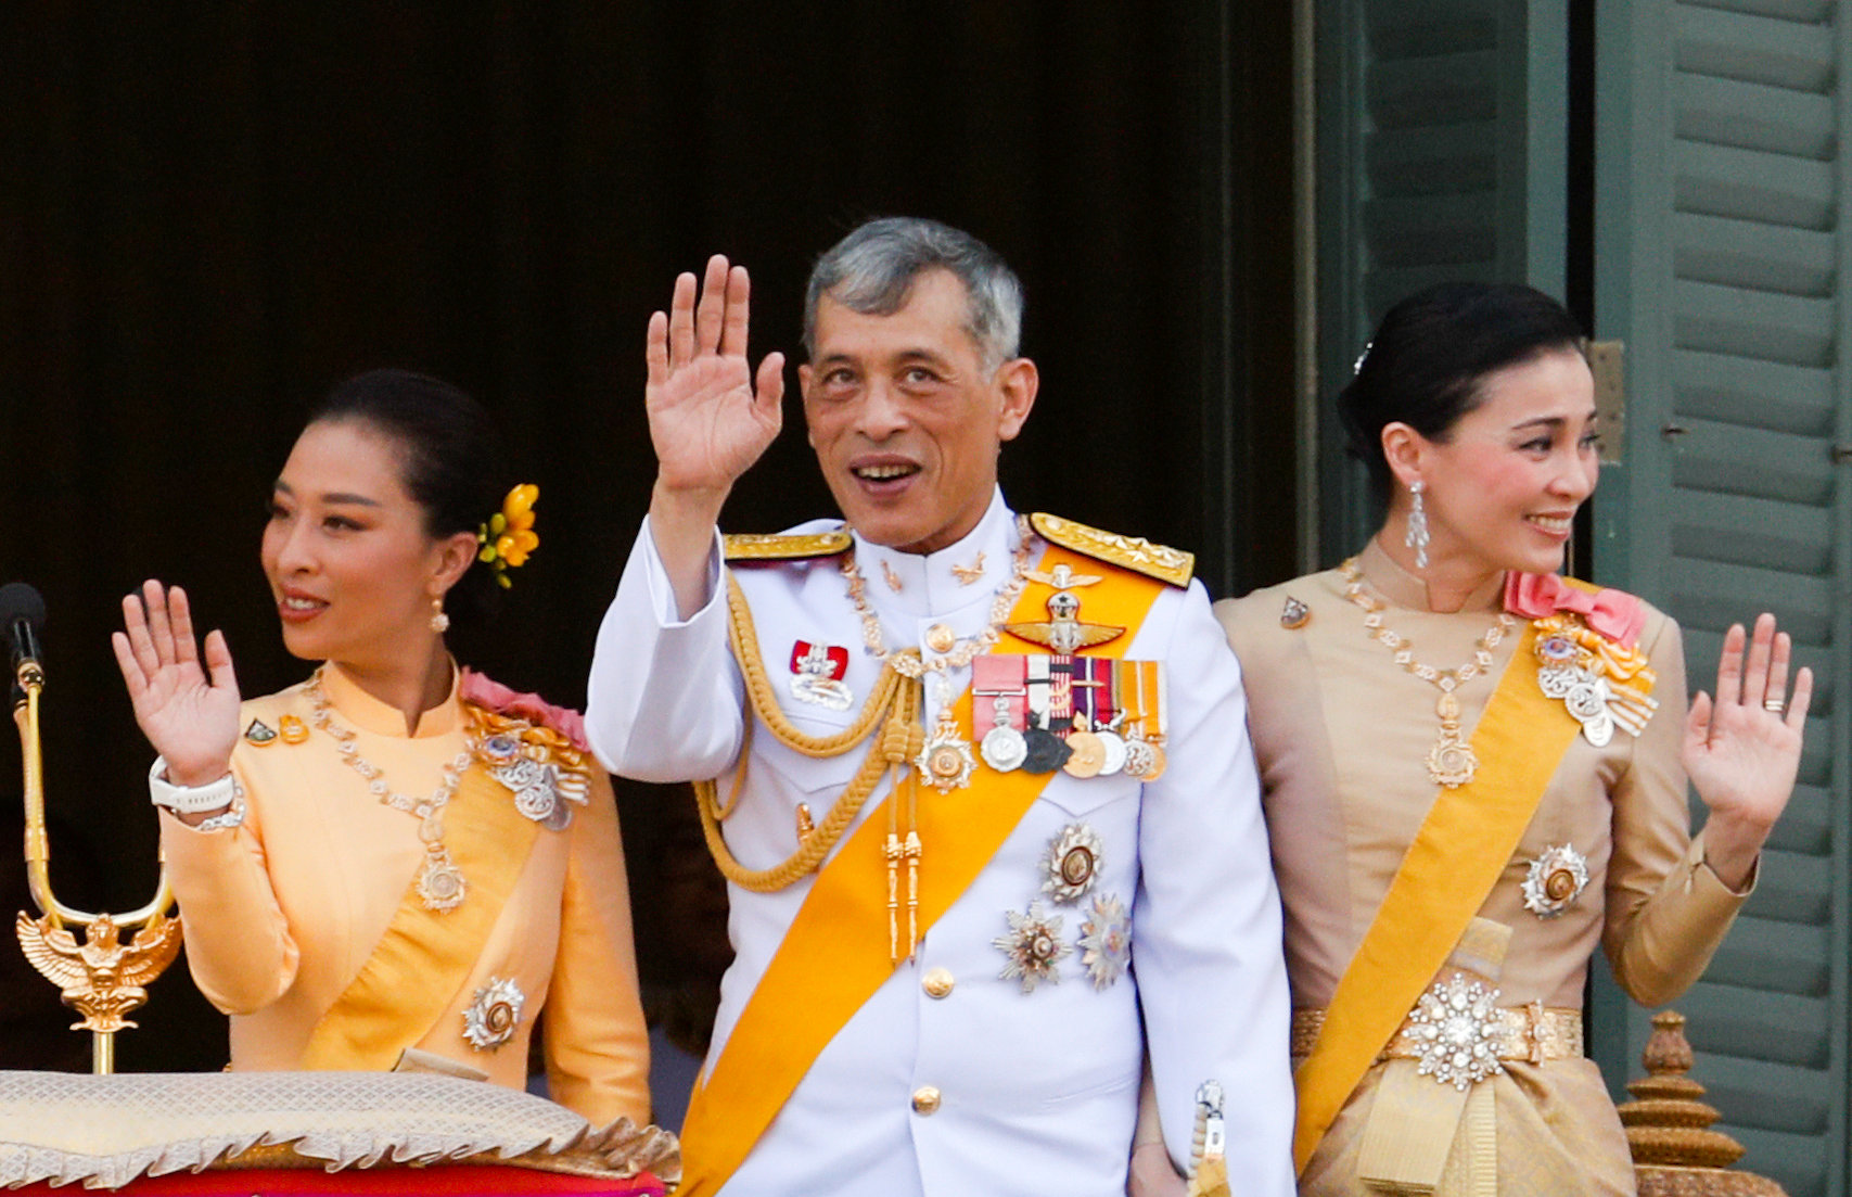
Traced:
[[1330, 398], [1395, 300], [1563, 291], [1567, 22], [1539, 0], [1317, 0], [1319, 547], [1376, 530]]

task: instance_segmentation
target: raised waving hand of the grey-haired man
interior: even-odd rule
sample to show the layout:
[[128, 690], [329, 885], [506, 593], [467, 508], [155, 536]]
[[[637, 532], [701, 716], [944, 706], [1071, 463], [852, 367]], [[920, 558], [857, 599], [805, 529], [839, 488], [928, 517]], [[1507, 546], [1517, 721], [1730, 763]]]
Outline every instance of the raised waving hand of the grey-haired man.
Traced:
[[746, 267], [730, 269], [715, 254], [700, 304], [694, 276], [682, 274], [669, 313], [650, 317], [644, 402], [661, 489], [724, 495], [778, 435], [785, 358], [767, 354], [754, 378], [746, 361], [750, 291]]

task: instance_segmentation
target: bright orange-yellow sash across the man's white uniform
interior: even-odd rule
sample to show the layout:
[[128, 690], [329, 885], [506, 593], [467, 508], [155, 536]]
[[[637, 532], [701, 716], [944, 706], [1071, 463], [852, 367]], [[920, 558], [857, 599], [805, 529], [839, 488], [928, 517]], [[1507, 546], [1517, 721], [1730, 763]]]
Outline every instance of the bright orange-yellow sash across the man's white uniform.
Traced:
[[[1095, 558], [1050, 545], [1039, 569], [1048, 573], [1059, 563], [1074, 573], [1098, 571], [1100, 565]], [[1119, 569], [1087, 587], [1087, 623], [1126, 628], [1093, 656], [1120, 656], [1165, 589], [1159, 582]], [[1048, 593], [1046, 586], [1030, 586], [1009, 621], [1041, 619]], [[959, 724], [969, 728], [969, 689], [956, 710]], [[976, 880], [1050, 780], [1052, 775], [1020, 769], [980, 769], [967, 789], [920, 797], [920, 936]], [[887, 956], [885, 838], [887, 819], [874, 810], [817, 873], [804, 906], [741, 1010], [726, 1049], [707, 1080], [696, 1084], [682, 1123], [682, 1197], [704, 1197], [726, 1184], [817, 1054], [895, 971]]]

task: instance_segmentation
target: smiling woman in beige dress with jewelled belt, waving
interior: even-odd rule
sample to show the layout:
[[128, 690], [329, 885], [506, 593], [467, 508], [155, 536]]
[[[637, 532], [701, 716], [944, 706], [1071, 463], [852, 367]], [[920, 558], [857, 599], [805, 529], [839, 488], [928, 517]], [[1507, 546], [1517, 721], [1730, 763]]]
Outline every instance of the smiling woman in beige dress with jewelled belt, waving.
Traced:
[[1596, 415], [1548, 296], [1404, 300], [1339, 404], [1383, 526], [1217, 604], [1285, 902], [1300, 1191], [1632, 1193], [1582, 1054], [1589, 958], [1645, 1004], [1704, 971], [1793, 789], [1811, 674], [1789, 693], [1761, 615], [1687, 710], [1678, 626], [1556, 576]]

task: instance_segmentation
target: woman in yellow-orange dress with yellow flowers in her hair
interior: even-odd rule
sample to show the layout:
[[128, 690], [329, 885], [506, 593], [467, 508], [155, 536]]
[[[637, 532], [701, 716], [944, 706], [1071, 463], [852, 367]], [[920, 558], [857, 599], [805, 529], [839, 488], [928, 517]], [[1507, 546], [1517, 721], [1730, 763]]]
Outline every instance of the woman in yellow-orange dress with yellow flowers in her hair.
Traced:
[[544, 1010], [554, 1099], [646, 1123], [609, 778], [576, 713], [444, 647], [450, 613], [485, 608], [537, 543], [535, 489], [502, 502], [494, 458], [461, 391], [344, 382], [278, 474], [261, 547], [283, 643], [315, 673], [241, 702], [224, 636], [200, 649], [187, 595], [159, 582], [124, 598], [115, 652], [159, 752], [187, 962], [232, 1015], [233, 1069], [519, 1088]]

